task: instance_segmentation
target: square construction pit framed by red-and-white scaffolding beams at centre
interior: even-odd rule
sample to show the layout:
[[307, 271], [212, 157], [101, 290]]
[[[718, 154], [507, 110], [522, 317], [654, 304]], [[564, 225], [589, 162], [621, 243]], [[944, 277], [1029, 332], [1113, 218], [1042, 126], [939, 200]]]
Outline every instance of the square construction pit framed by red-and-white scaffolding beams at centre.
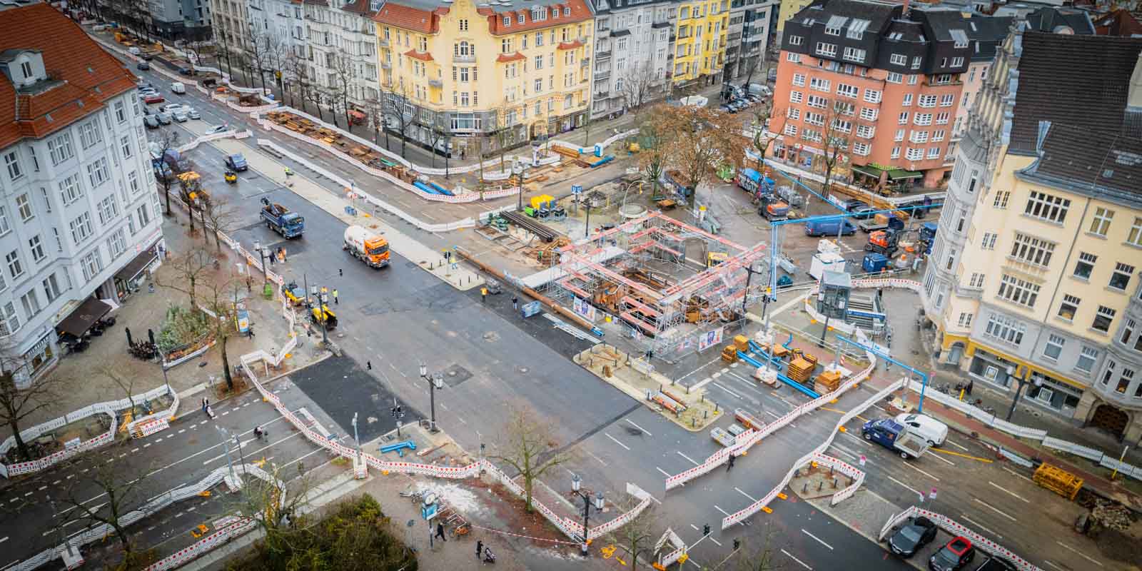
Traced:
[[767, 247], [745, 247], [661, 212], [566, 243], [522, 282], [654, 359], [733, 337], [743, 298], [767, 284]]

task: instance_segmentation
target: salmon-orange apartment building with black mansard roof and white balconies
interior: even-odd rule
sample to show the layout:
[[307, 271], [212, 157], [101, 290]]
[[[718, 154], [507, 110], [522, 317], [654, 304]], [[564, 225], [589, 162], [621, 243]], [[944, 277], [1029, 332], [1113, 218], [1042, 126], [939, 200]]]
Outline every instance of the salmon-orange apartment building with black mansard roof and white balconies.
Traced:
[[847, 147], [842, 177], [942, 186], [974, 53], [968, 30], [956, 11], [875, 1], [825, 0], [799, 11], [781, 40], [773, 100], [786, 118], [771, 155], [823, 171], [831, 132]]

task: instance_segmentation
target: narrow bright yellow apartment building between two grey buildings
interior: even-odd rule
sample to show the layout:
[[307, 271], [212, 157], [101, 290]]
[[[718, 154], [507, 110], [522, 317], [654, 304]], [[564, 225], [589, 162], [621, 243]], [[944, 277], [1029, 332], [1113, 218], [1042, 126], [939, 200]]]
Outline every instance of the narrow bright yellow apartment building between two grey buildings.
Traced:
[[671, 77], [675, 87], [713, 85], [721, 78], [729, 27], [730, 0], [678, 5]]

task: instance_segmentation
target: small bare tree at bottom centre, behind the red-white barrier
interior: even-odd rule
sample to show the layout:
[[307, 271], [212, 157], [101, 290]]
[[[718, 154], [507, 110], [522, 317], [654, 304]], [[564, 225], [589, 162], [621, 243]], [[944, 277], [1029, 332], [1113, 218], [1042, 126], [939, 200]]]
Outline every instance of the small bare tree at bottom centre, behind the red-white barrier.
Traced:
[[525, 403], [517, 403], [508, 410], [499, 443], [493, 444], [489, 458], [515, 468], [523, 480], [524, 507], [532, 510], [531, 492], [536, 480], [547, 471], [569, 460], [558, 449], [550, 423], [540, 419]]

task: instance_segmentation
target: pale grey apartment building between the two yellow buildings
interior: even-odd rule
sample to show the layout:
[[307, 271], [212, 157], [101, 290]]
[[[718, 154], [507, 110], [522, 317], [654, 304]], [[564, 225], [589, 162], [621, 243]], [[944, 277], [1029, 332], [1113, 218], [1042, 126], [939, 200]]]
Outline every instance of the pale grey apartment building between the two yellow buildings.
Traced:
[[667, 0], [594, 0], [595, 55], [590, 116], [666, 96], [677, 6]]

